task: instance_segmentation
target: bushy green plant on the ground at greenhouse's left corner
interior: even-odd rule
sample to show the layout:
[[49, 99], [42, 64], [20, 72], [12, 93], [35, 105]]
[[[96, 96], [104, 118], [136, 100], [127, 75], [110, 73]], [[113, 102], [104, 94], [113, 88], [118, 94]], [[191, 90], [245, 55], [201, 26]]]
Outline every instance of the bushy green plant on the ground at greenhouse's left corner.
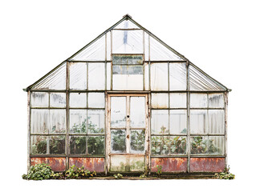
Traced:
[[22, 178], [28, 180], [49, 179], [51, 178], [51, 166], [47, 166], [45, 163], [30, 166], [30, 170], [27, 174], [23, 174]]

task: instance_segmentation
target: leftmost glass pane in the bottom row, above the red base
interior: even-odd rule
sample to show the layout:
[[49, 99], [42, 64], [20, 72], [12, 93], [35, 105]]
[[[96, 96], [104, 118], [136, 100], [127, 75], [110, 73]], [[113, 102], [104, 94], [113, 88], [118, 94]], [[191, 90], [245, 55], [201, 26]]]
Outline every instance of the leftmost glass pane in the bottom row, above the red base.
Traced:
[[30, 154], [47, 154], [47, 137], [46, 136], [31, 136], [31, 151]]

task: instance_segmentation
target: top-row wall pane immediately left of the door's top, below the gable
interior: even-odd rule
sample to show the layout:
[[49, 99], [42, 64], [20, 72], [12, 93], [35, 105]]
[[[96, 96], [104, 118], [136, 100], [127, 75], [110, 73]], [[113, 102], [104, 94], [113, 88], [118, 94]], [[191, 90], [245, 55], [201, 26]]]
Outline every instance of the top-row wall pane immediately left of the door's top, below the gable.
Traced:
[[88, 93], [88, 107], [104, 108], [105, 94], [104, 93]]

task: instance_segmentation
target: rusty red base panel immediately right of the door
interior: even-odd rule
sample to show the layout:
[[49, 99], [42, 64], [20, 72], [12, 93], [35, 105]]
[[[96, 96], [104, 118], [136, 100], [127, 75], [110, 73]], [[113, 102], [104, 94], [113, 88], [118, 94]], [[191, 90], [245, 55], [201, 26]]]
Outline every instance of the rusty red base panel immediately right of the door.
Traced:
[[156, 172], [156, 165], [162, 166], [162, 172], [185, 172], [187, 158], [151, 158], [151, 171]]

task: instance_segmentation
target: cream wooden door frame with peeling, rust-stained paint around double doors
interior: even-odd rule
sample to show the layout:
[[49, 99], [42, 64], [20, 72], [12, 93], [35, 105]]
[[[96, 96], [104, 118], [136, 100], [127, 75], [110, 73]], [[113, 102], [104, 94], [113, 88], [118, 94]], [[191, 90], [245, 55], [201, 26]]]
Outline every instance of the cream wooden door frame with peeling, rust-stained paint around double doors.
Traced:
[[[111, 128], [110, 128], [110, 116], [111, 116], [111, 97], [127, 97], [127, 96], [142, 96], [145, 97], [145, 151], [144, 154], [131, 154], [131, 153], [125, 153], [120, 155], [134, 155], [134, 156], [140, 156], [144, 155], [144, 165], [148, 167], [148, 170], [150, 170], [150, 95], [148, 93], [108, 93], [105, 94], [105, 102], [106, 102], [106, 139], [105, 139], [105, 174], [108, 174], [110, 172], [111, 167]], [[130, 103], [130, 102], [129, 102]], [[130, 107], [126, 107], [126, 110], [128, 111]], [[129, 144], [129, 143], [128, 143]], [[114, 154], [113, 154], [114, 155]], [[131, 172], [132, 173], [132, 172]]]

